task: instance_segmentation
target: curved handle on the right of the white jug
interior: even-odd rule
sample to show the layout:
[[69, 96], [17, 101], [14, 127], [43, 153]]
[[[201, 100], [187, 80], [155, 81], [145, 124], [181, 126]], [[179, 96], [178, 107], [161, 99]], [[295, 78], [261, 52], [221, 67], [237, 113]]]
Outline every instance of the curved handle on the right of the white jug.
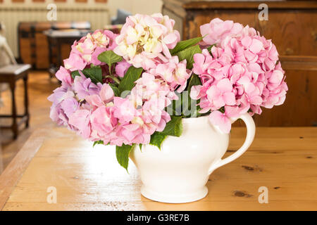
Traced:
[[249, 146], [251, 146], [251, 143], [254, 139], [254, 135], [255, 135], [255, 124], [254, 124], [254, 120], [252, 119], [251, 115], [249, 115], [249, 113], [244, 113], [242, 114], [240, 117], [238, 118], [232, 118], [232, 120], [235, 122], [235, 120], [237, 119], [241, 119], [244, 121], [244, 123], [247, 126], [247, 137], [242, 145], [241, 148], [239, 148], [239, 150], [237, 150], [235, 153], [233, 153], [232, 155], [228, 156], [225, 159], [220, 159], [218, 160], [218, 162], [213, 163], [213, 165], [211, 165], [211, 167], [209, 168], [209, 175], [217, 168], [222, 167], [223, 165], [226, 165], [229, 162], [232, 162], [233, 160], [239, 158], [248, 148]]

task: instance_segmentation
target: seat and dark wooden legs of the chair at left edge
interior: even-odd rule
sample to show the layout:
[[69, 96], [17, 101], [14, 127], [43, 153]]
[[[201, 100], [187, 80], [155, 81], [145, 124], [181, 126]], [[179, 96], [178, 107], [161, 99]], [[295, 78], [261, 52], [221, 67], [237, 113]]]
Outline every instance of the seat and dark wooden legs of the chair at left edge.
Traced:
[[[27, 96], [27, 75], [30, 71], [31, 65], [29, 64], [15, 64], [15, 65], [6, 65], [0, 68], [0, 83], [7, 83], [11, 89], [12, 96], [12, 113], [11, 115], [0, 115], [0, 118], [12, 118], [13, 122], [11, 126], [6, 127], [2, 126], [0, 128], [9, 128], [13, 131], [13, 139], [18, 137], [18, 127], [20, 124], [25, 122], [25, 127], [29, 127], [30, 114], [29, 114], [29, 100]], [[23, 115], [17, 114], [16, 103], [15, 103], [15, 86], [18, 79], [23, 79], [24, 82], [24, 105], [25, 113]], [[21, 120], [18, 122], [18, 118]]]

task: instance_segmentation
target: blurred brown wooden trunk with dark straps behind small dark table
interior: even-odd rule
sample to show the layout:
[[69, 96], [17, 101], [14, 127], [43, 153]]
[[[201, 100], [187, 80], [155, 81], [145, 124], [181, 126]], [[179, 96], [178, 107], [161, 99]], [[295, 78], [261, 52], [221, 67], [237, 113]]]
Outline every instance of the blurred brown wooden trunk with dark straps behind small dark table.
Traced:
[[[34, 69], [48, 69], [51, 63], [58, 64], [58, 58], [68, 58], [73, 43], [51, 43], [44, 34], [45, 30], [90, 30], [88, 21], [76, 22], [21, 22], [18, 24], [18, 49], [20, 59]], [[73, 39], [75, 41], [75, 39]], [[50, 48], [51, 53], [50, 53]]]

